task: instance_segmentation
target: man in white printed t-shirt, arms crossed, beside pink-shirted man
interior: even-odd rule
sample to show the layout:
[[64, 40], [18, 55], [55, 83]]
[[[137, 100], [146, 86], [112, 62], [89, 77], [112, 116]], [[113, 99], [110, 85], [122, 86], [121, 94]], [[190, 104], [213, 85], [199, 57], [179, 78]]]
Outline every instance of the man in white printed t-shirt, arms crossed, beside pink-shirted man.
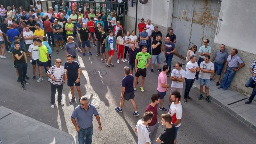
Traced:
[[[170, 94], [173, 93], [174, 91], [178, 91], [182, 96], [183, 81], [185, 80], [186, 72], [181, 67], [182, 67], [182, 63], [177, 62], [175, 64], [175, 69], [172, 70], [171, 77], [170, 77], [172, 80]], [[169, 106], [171, 105], [171, 103], [172, 101], [171, 101], [171, 95], [170, 95]]]

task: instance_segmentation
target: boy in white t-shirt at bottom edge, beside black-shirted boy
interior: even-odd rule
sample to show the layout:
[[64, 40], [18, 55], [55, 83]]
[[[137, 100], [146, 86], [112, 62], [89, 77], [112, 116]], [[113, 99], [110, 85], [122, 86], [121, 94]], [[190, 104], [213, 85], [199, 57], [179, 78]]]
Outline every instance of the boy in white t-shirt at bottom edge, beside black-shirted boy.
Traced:
[[150, 141], [150, 131], [148, 128], [148, 123], [150, 123], [153, 119], [153, 112], [148, 111], [143, 115], [143, 120], [140, 119], [137, 122], [137, 125], [134, 129], [134, 132], [138, 133], [138, 144], [151, 144]]

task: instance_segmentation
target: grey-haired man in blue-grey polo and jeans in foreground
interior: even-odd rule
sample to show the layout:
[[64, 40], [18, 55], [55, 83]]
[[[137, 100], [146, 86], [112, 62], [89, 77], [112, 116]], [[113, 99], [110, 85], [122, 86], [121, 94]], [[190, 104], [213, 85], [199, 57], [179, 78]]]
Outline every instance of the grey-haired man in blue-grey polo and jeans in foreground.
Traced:
[[[99, 124], [99, 131], [101, 131], [100, 116], [96, 108], [89, 103], [89, 99], [85, 96], [81, 97], [80, 105], [78, 105], [72, 115], [71, 121], [74, 124], [78, 133], [79, 144], [91, 144], [92, 143], [92, 115], [95, 115]], [[75, 120], [77, 118], [77, 122]]]

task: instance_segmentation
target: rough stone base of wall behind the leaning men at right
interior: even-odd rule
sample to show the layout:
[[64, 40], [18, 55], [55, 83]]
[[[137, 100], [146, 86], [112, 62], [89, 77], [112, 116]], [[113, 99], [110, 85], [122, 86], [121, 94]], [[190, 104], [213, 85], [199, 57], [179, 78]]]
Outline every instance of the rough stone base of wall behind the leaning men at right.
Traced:
[[[216, 50], [218, 50], [220, 48], [220, 45], [221, 44], [219, 44], [219, 43], [214, 43], [214, 46], [212, 48], [213, 50], [212, 50], [211, 57], [215, 54]], [[231, 53], [232, 49], [233, 49], [232, 47], [228, 47], [228, 46], [226, 46], [226, 48], [225, 48], [225, 50], [228, 52], [228, 54]], [[235, 77], [232, 80], [230, 87], [232, 89], [240, 92], [241, 94], [249, 97], [251, 95], [252, 88], [246, 88], [245, 83], [251, 76], [249, 69], [250, 69], [251, 63], [253, 61], [255, 61], [256, 55], [246, 52], [246, 51], [242, 51], [242, 50], [238, 50], [238, 55], [241, 57], [242, 61], [245, 63], [245, 66], [236, 72]], [[224, 75], [224, 68], [222, 70], [221, 80], [223, 78], [223, 75]], [[215, 79], [216, 78], [217, 78], [217, 75], [215, 75]], [[254, 100], [256, 100], [256, 98]]]

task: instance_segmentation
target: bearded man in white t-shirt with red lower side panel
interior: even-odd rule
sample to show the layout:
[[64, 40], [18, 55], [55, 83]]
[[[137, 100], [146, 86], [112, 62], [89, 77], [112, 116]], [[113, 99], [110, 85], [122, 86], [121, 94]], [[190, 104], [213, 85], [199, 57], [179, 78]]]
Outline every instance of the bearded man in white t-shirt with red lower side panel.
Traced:
[[181, 117], [182, 117], [182, 106], [179, 101], [180, 97], [181, 97], [180, 93], [178, 91], [174, 91], [174, 92], [172, 92], [171, 98], [170, 98], [172, 101], [172, 104], [169, 107], [168, 114], [170, 114], [172, 116], [172, 124], [174, 124], [175, 128], [176, 128], [173, 144], [176, 144], [176, 142], [177, 142], [177, 139], [176, 139], [177, 132], [178, 132], [178, 129], [180, 128], [180, 121], [181, 121]]

